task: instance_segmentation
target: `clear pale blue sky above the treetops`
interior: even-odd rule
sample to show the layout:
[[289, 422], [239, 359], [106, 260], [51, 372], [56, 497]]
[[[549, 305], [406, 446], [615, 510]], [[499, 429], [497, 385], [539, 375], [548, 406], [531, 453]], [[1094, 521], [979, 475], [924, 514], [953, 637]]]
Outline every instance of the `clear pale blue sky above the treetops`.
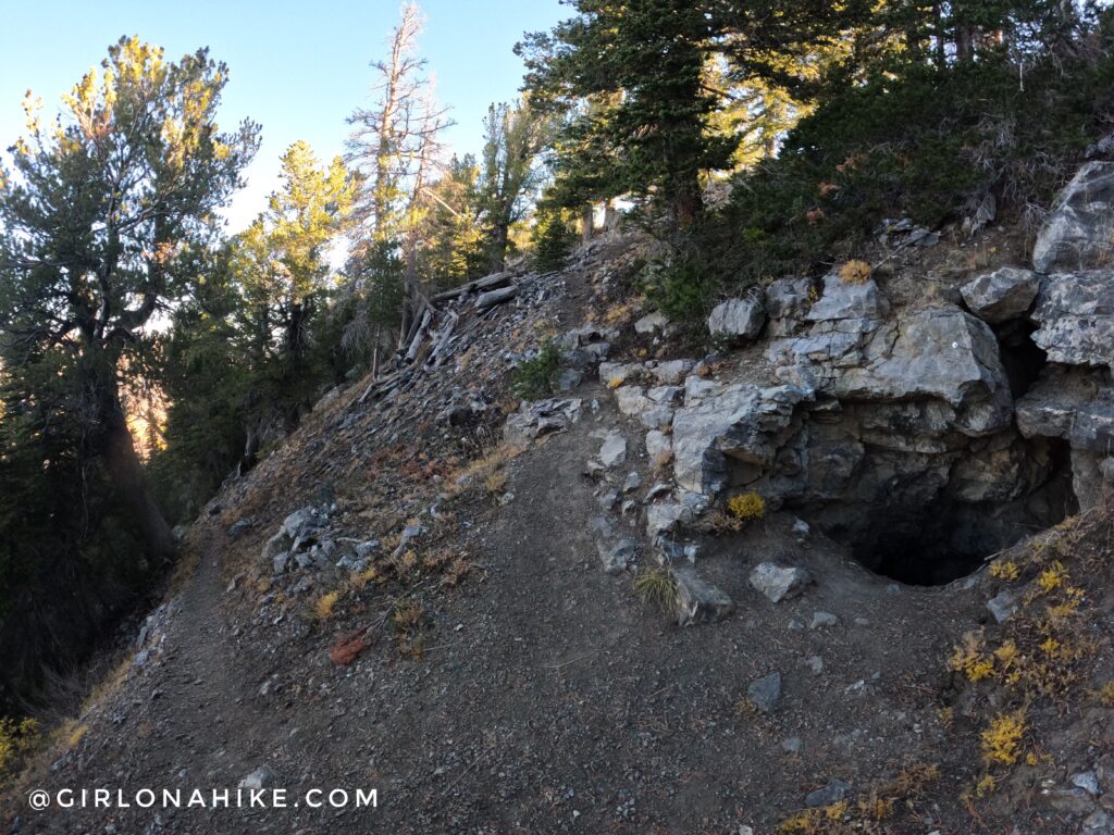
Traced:
[[[510, 100], [521, 82], [511, 51], [524, 31], [568, 17], [557, 0], [424, 0], [422, 55], [439, 101], [452, 106], [447, 135], [457, 151], [476, 151], [491, 101]], [[0, 148], [23, 132], [23, 94], [52, 112], [62, 92], [105, 57], [123, 35], [138, 35], [178, 58], [198, 47], [228, 65], [221, 111], [232, 127], [245, 117], [263, 126], [248, 186], [228, 210], [246, 225], [274, 188], [278, 157], [304, 139], [319, 157], [340, 154], [345, 117], [368, 100], [370, 61], [385, 55], [399, 0], [38, 0], [4, 3], [0, 26]]]

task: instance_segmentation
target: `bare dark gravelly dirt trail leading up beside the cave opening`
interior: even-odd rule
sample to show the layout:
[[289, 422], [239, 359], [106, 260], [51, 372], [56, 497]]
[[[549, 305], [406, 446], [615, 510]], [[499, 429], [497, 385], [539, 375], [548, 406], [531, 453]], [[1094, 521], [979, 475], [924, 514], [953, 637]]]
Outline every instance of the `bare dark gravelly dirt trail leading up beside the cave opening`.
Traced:
[[[618, 420], [607, 405], [598, 419]], [[525, 453], [514, 501], [461, 529], [482, 570], [426, 600], [431, 646], [417, 661], [380, 645], [335, 669], [333, 630], [295, 616], [252, 627], [215, 564], [225, 522], [201, 523], [162, 657], [100, 706], [47, 786], [235, 789], [268, 765], [291, 802], [375, 788], [378, 809], [53, 811], [23, 814], [21, 832], [766, 833], [831, 777], [866, 788], [903, 762], [962, 756], [925, 692], [980, 606], [970, 595], [895, 589], [813, 543], [792, 556], [818, 584], [775, 607], [746, 584], [779, 556], [754, 532], [698, 563], [734, 617], [677, 629], [599, 570], [580, 475], [597, 428], [587, 414]], [[815, 610], [839, 623], [810, 630]], [[773, 670], [778, 711], [740, 715], [749, 682]]]

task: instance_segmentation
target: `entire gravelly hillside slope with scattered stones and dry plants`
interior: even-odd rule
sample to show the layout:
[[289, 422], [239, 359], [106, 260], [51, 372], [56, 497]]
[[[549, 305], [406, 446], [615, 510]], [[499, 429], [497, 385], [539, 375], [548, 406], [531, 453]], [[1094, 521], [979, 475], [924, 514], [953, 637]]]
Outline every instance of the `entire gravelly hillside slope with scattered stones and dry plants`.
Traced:
[[[375, 788], [378, 808], [35, 813], [17, 798], [13, 831], [1107, 832], [1110, 707], [1082, 684], [1066, 701], [1028, 700], [1034, 762], [996, 772], [979, 799], [980, 734], [1013, 697], [948, 669], [965, 633], [997, 646], [1010, 623], [987, 601], [1039, 588], [1053, 549], [1086, 590], [1072, 628], [1092, 651], [1073, 669], [1087, 687], [1112, 672], [1110, 528], [1095, 512], [984, 554], [1016, 573], [936, 586], [868, 571], [791, 498], [745, 525], [678, 519], [680, 547], [700, 548], [698, 576], [684, 558], [665, 574], [670, 593], [688, 583], [696, 598], [680, 620], [719, 622], [678, 627], [639, 599], [632, 577], [668, 562], [672, 542], [646, 518], [685, 493], [647, 450], [646, 410], [616, 401], [615, 366], [597, 381], [595, 365], [680, 356], [633, 326], [625, 275], [643, 246], [607, 238], [564, 273], [516, 276], [516, 297], [482, 315], [458, 301], [450, 361], [331, 396], [227, 484], [186, 538], [195, 570], [118, 687], [78, 718], [88, 731], [21, 789], [188, 794], [247, 779], [292, 802]], [[905, 266], [930, 257], [910, 252]], [[892, 285], [900, 298], [900, 275]], [[501, 442], [511, 364], [570, 332], [571, 353], [590, 355], [570, 361], [583, 379], [515, 413], [517, 443]], [[706, 357], [709, 384], [762, 379], [764, 347]], [[882, 523], [887, 507], [872, 505]], [[751, 581], [764, 562], [811, 582], [774, 602]], [[1019, 607], [1029, 600], [1042, 605]], [[1073, 787], [1079, 774], [1094, 793]]]

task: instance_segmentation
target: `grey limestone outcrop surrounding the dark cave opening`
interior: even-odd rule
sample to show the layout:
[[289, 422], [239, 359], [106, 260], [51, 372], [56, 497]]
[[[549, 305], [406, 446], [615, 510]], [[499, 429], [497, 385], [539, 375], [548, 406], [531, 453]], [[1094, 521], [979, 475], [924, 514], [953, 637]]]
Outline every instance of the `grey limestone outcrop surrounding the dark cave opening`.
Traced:
[[[1079, 253], [1101, 259], [1107, 190], [1114, 166], [1081, 171], [1042, 233], [1038, 271], [1069, 253], [1073, 268]], [[662, 541], [756, 491], [870, 568], [910, 551], [938, 560], [905, 578], [937, 582], [965, 573], [949, 560], [978, 564], [1101, 501], [1114, 478], [1114, 267], [1003, 267], [960, 295], [966, 308], [895, 306], [872, 278], [785, 278], [761, 307], [734, 298], [713, 311], [709, 330], [729, 342], [765, 333], [734, 361], [603, 363], [647, 455], [658, 466], [672, 456], [647, 533]]]

